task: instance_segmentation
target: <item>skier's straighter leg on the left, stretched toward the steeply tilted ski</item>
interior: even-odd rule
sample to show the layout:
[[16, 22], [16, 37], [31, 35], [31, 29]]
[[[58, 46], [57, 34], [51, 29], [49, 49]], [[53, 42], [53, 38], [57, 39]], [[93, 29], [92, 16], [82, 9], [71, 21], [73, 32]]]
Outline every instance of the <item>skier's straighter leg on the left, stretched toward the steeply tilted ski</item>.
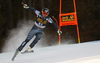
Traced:
[[18, 50], [21, 51], [24, 46], [32, 39], [32, 37], [34, 36], [35, 34], [35, 30], [31, 30], [27, 36], [27, 38], [25, 39], [24, 42], [22, 42], [22, 44], [18, 47]]

